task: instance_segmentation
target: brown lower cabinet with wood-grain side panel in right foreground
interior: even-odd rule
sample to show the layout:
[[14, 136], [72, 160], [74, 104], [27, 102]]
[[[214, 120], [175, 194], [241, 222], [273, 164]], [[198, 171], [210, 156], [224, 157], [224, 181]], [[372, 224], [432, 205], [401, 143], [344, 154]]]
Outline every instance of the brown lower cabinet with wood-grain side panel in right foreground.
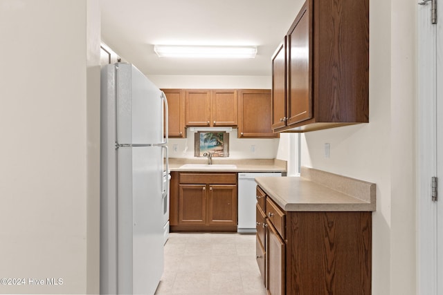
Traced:
[[[268, 294], [371, 294], [371, 212], [283, 211], [265, 198], [257, 203], [266, 216], [257, 263]], [[257, 227], [262, 221], [257, 209]]]

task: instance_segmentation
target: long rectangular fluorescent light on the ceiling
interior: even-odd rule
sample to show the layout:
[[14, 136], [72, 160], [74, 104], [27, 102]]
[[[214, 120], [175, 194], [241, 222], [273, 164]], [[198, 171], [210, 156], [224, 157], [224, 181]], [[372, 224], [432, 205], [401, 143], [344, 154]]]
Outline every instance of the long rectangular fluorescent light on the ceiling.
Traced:
[[159, 57], [254, 58], [257, 47], [154, 45], [154, 51]]

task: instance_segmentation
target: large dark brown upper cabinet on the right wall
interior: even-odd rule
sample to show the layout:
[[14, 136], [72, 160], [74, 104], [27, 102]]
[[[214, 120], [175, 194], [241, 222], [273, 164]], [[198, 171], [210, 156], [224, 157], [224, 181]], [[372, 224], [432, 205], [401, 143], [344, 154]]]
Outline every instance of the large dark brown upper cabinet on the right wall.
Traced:
[[272, 129], [369, 122], [368, 0], [307, 0], [275, 51]]

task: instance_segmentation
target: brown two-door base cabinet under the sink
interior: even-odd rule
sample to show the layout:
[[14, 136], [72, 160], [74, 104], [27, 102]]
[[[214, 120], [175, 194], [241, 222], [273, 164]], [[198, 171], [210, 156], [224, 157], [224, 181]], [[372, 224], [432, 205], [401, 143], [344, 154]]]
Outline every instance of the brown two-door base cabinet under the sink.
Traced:
[[237, 231], [237, 173], [172, 172], [171, 231]]

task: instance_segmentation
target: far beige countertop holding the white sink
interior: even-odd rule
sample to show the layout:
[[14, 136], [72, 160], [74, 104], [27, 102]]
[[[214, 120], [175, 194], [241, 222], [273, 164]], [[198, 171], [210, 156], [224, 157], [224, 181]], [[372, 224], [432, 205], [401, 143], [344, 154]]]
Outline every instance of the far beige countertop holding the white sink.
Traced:
[[[184, 164], [207, 164], [206, 158], [170, 158], [170, 171], [203, 171], [203, 172], [285, 172], [287, 162], [278, 159], [222, 159], [213, 158], [213, 164], [206, 168], [183, 168]], [[234, 164], [236, 168], [219, 169], [217, 164]]]

